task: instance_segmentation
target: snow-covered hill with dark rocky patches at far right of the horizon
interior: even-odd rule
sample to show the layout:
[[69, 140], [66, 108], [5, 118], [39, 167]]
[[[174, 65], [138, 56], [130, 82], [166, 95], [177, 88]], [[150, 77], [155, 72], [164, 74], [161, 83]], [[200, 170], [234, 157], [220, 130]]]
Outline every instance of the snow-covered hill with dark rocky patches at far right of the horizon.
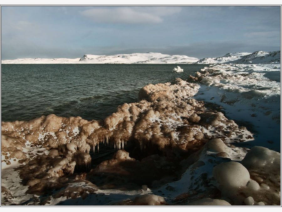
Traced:
[[280, 63], [280, 51], [274, 52], [239, 52], [228, 53], [223, 57], [216, 58], [203, 58], [197, 64], [218, 64], [218, 63], [240, 63], [240, 64], [267, 64], [267, 63]]

